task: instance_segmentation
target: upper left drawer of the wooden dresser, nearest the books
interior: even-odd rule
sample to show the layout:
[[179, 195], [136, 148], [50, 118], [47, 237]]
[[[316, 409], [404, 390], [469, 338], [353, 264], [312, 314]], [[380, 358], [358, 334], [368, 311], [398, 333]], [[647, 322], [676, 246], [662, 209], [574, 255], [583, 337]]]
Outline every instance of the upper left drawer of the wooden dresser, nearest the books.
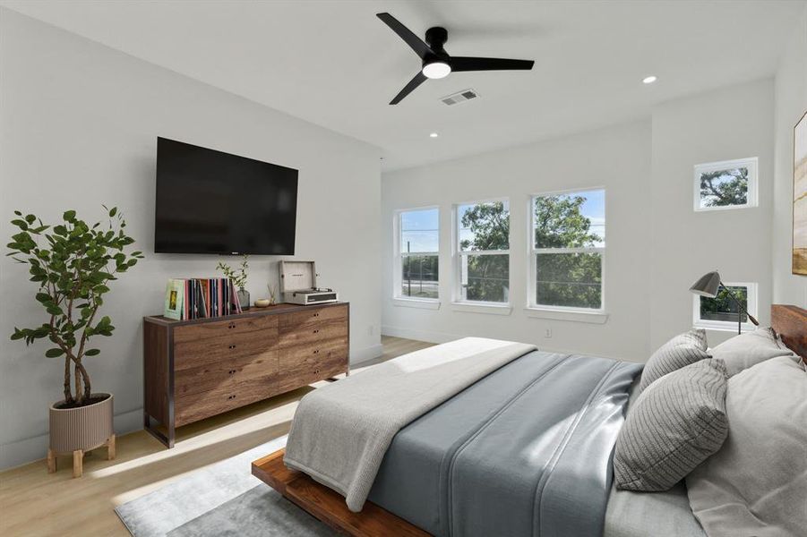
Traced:
[[262, 355], [277, 347], [278, 328], [183, 341], [174, 345], [174, 369], [192, 369], [231, 358]]

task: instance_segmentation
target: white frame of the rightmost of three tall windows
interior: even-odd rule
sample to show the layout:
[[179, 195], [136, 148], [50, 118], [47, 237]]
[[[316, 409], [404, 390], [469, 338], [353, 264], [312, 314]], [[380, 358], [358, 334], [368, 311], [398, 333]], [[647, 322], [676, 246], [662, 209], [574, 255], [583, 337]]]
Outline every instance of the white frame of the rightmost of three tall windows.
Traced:
[[[603, 192], [603, 213], [605, 215], [605, 229], [608, 228], [608, 192], [605, 186], [581, 186], [579, 188], [563, 189], [550, 192], [539, 192], [530, 194], [528, 200], [528, 228], [527, 228], [527, 257], [529, 263], [529, 270], [527, 275], [527, 309], [529, 311], [557, 311], [568, 313], [582, 313], [582, 314], [605, 314], [605, 249], [607, 247], [607, 234], [605, 234], [605, 246], [596, 246], [589, 248], [537, 248], [535, 241], [535, 225], [536, 225], [536, 211], [535, 203], [537, 198], [544, 198], [547, 196], [558, 196], [572, 194], [575, 192]], [[536, 279], [537, 279], [537, 254], [543, 253], [594, 253], [600, 255], [600, 307], [599, 308], [574, 308], [571, 306], [553, 306], [549, 304], [539, 304], [536, 298]], [[605, 319], [602, 319], [605, 322]]]

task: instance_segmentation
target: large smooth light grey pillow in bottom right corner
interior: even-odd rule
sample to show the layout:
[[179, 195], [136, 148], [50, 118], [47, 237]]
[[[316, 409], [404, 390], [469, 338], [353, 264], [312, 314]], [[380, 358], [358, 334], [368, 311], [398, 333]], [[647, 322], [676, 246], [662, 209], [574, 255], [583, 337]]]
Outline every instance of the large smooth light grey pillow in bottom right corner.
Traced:
[[731, 432], [686, 478], [710, 537], [807, 534], [807, 371], [781, 356], [728, 381]]

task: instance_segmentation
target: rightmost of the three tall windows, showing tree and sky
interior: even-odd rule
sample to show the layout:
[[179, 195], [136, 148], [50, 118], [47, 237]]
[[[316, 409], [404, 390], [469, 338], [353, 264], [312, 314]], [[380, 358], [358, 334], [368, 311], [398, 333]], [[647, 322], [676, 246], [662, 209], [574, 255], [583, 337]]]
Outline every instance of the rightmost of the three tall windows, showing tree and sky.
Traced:
[[605, 191], [532, 199], [529, 306], [603, 309]]

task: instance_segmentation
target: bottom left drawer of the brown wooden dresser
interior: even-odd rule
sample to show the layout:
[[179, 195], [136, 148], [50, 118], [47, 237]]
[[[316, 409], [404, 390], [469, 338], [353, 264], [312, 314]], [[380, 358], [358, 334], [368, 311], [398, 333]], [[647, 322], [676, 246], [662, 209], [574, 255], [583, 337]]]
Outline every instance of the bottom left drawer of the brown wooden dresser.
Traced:
[[275, 371], [265, 376], [241, 379], [237, 386], [225, 384], [208, 391], [177, 397], [174, 402], [175, 426], [197, 422], [278, 393], [278, 375]]

